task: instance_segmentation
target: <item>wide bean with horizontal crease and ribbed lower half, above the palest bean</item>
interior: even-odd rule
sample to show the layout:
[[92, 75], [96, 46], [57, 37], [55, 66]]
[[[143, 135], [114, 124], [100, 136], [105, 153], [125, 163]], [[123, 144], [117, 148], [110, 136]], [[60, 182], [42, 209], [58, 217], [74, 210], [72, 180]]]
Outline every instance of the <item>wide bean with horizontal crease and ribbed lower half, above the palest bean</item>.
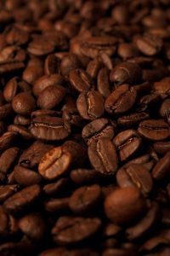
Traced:
[[59, 141], [68, 137], [71, 127], [63, 119], [50, 116], [39, 116], [32, 119], [31, 134], [42, 141]]

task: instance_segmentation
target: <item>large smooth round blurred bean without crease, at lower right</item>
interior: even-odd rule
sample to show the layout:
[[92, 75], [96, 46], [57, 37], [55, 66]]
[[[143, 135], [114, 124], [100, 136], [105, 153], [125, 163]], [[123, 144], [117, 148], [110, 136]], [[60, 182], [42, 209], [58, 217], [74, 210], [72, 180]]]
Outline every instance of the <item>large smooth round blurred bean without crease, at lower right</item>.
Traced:
[[144, 198], [132, 187], [113, 191], [104, 206], [106, 216], [115, 224], [132, 224], [146, 211]]

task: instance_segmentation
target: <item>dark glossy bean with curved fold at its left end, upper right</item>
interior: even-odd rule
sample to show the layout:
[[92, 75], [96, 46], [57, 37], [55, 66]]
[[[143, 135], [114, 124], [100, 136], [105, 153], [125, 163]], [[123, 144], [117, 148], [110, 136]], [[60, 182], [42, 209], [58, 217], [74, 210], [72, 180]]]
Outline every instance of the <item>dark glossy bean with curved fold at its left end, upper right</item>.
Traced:
[[116, 86], [121, 84], [139, 84], [142, 79], [142, 70], [138, 64], [128, 61], [123, 62], [112, 69], [110, 79]]

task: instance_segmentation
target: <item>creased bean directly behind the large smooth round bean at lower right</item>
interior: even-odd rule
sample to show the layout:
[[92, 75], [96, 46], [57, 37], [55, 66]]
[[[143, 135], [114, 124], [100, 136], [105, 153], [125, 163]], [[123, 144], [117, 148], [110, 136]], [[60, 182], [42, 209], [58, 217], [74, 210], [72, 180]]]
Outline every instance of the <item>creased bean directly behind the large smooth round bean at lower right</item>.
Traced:
[[150, 172], [138, 164], [130, 164], [118, 170], [116, 181], [121, 188], [136, 187], [144, 195], [148, 195], [153, 189]]

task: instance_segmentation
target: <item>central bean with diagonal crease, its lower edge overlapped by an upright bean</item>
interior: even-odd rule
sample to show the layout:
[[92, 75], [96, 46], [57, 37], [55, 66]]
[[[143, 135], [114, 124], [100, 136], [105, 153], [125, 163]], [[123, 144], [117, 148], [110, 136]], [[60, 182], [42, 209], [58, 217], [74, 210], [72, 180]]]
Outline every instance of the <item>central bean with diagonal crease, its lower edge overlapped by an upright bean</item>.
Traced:
[[115, 135], [114, 126], [109, 119], [95, 119], [82, 129], [82, 138], [89, 145], [101, 137], [112, 139]]

